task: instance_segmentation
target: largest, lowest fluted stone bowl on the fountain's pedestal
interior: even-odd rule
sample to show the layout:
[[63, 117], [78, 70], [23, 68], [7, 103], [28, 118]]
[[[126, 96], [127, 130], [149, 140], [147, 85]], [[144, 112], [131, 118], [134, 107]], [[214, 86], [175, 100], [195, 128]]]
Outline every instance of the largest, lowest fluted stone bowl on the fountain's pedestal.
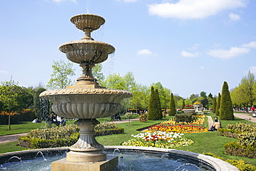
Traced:
[[53, 102], [55, 114], [64, 118], [105, 118], [120, 111], [120, 102], [129, 91], [116, 89], [56, 89], [40, 93]]

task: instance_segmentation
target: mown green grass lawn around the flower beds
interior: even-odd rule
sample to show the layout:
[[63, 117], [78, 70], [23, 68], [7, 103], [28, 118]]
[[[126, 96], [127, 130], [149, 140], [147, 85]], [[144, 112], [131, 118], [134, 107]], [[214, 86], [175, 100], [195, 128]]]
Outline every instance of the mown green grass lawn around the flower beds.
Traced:
[[[214, 119], [215, 115], [209, 114], [208, 116], [212, 116], [212, 118]], [[163, 118], [163, 120], [168, 120], [170, 118], [171, 116], [167, 116], [166, 118]], [[122, 118], [122, 119], [125, 119], [125, 118]], [[104, 122], [104, 121], [108, 122], [110, 121], [110, 118], [100, 118], [98, 120], [100, 120], [100, 122]], [[136, 129], [140, 129], [142, 127], [148, 127], [150, 125], [155, 125], [157, 123], [161, 123], [161, 121], [163, 120], [148, 120], [145, 123], [141, 123], [139, 120], [137, 120], [130, 123], [120, 123], [118, 124], [118, 127], [124, 127], [125, 134], [97, 136], [96, 140], [102, 145], [120, 145], [124, 141], [129, 140], [131, 138], [131, 134], [138, 134], [139, 131], [136, 131]], [[72, 124], [74, 120], [69, 120], [68, 122]], [[243, 120], [240, 118], [235, 118], [235, 120], [221, 120], [222, 127], [226, 127], [226, 125], [228, 124], [235, 124], [235, 123], [249, 123], [249, 122], [247, 120]], [[28, 125], [30, 125], [30, 123], [28, 123]], [[33, 123], [33, 125], [37, 125], [37, 124]], [[0, 127], [1, 126], [2, 125], [0, 125]], [[25, 125], [21, 124], [20, 127], [21, 126], [27, 127], [26, 124]], [[7, 125], [7, 128], [8, 128], [8, 125]], [[3, 134], [2, 129], [0, 130], [1, 130], [0, 134]], [[177, 150], [185, 150], [185, 151], [196, 152], [196, 153], [210, 152], [210, 153], [216, 154], [217, 156], [223, 157], [223, 159], [236, 159], [236, 160], [242, 159], [246, 161], [246, 163], [256, 165], [255, 159], [248, 159], [245, 157], [230, 156], [230, 155], [223, 154], [224, 152], [223, 145], [230, 141], [237, 141], [237, 139], [219, 136], [218, 132], [193, 133], [193, 134], [185, 134], [184, 136], [186, 138], [192, 139], [195, 143], [185, 147], [178, 147]], [[0, 144], [0, 153], [15, 152], [19, 150], [27, 150], [27, 149], [24, 147], [17, 146], [17, 141]]]

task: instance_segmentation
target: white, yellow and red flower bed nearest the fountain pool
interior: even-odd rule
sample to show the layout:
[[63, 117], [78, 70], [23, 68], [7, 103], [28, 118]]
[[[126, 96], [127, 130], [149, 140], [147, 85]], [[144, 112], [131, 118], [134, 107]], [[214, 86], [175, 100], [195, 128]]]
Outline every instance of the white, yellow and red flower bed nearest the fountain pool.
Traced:
[[160, 147], [160, 148], [175, 148], [186, 146], [194, 143], [194, 141], [183, 138], [183, 134], [174, 132], [145, 132], [137, 135], [131, 135], [132, 138], [122, 145], [126, 146], [141, 146], [141, 147]]

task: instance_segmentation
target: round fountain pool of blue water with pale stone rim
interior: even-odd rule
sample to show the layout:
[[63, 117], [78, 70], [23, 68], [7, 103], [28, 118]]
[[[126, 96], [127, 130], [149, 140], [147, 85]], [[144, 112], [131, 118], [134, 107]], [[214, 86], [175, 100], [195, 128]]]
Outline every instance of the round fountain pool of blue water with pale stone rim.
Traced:
[[[118, 156], [119, 170], [221, 170], [233, 165], [203, 154], [152, 147], [104, 146], [108, 156]], [[51, 162], [64, 159], [68, 147], [0, 154], [0, 170], [51, 170]], [[7, 162], [8, 161], [8, 162]], [[152, 164], [154, 163], [154, 164]]]

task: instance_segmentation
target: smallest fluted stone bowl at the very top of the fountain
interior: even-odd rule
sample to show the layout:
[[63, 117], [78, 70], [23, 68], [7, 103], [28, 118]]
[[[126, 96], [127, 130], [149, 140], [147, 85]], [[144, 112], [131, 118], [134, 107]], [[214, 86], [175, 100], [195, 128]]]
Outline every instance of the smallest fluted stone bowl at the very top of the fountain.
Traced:
[[86, 28], [97, 30], [105, 23], [105, 19], [98, 15], [80, 14], [71, 17], [71, 23], [75, 24], [75, 26], [80, 30], [84, 30]]

